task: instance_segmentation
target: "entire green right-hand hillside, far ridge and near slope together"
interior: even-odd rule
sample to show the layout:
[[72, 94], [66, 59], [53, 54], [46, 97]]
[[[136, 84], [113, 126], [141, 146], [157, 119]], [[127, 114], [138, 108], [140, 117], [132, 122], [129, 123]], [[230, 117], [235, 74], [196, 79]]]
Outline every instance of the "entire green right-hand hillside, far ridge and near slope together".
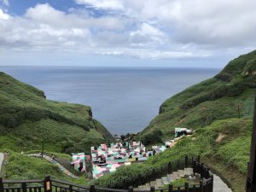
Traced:
[[[105, 185], [110, 180], [119, 181], [135, 172], [148, 172], [153, 166], [177, 160], [186, 154], [201, 154], [207, 166], [224, 177], [233, 191], [244, 191], [256, 88], [255, 61], [256, 51], [241, 55], [230, 61], [214, 78], [167, 99], [160, 107], [160, 114], [137, 139], [147, 140], [148, 145], [159, 143], [154, 139], [148, 141], [148, 138], [152, 138], [155, 131], [161, 131], [161, 138], [165, 141], [174, 137], [175, 127], [192, 128], [196, 130], [195, 136], [185, 137], [174, 148], [149, 158], [143, 164], [121, 167], [96, 183]], [[225, 137], [217, 143], [219, 133]]]

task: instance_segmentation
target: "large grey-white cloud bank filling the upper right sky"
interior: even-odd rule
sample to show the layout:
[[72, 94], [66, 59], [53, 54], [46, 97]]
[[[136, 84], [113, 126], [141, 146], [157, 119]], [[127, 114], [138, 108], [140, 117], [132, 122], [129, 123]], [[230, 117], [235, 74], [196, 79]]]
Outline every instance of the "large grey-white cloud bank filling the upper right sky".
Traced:
[[[182, 44], [244, 46], [255, 44], [254, 0], [76, 0], [97, 9], [111, 9], [135, 18], [137, 23], [154, 20], [172, 31]], [[102, 3], [103, 2], [103, 3]], [[108, 4], [109, 6], [101, 6]], [[125, 9], [121, 9], [125, 8]]]

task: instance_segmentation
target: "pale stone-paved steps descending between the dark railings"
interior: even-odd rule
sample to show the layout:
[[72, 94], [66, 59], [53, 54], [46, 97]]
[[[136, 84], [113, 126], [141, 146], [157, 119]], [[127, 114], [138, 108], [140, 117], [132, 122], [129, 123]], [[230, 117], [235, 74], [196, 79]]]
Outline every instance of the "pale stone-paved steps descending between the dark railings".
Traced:
[[139, 185], [134, 190], [150, 190], [151, 187], [154, 189], [165, 188], [166, 185], [172, 183], [173, 181], [185, 177], [185, 175], [191, 175], [193, 173], [192, 168], [185, 168], [184, 170], [177, 170], [177, 172], [172, 172], [172, 174], [167, 174], [166, 177], [160, 177], [154, 181], [150, 181], [143, 185]]

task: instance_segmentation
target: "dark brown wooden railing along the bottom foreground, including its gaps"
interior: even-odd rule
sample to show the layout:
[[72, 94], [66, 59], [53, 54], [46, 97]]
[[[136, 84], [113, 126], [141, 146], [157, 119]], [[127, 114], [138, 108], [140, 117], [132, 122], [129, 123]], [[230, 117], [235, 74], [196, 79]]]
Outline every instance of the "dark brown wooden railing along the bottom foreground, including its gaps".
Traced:
[[[3, 180], [0, 177], [0, 192], [132, 192], [136, 191], [132, 186], [136, 187], [138, 183], [147, 183], [154, 180], [155, 178], [161, 177], [162, 174], [171, 173], [177, 171], [177, 169], [182, 169], [185, 167], [193, 167], [194, 173], [201, 174], [200, 184], [190, 184], [184, 183], [183, 186], [172, 186], [170, 184], [168, 188], [165, 189], [154, 189], [151, 187], [150, 190], [144, 190], [140, 192], [158, 191], [158, 192], [212, 192], [213, 190], [213, 176], [209, 169], [199, 162], [199, 159], [195, 160], [188, 157], [185, 160], [178, 160], [175, 163], [168, 163], [167, 166], [160, 166], [154, 169], [152, 172], [154, 175], [148, 174], [147, 177], [140, 175], [142, 178], [140, 182], [133, 182], [131, 180], [123, 183], [123, 189], [113, 189], [113, 188], [101, 188], [95, 185], [90, 185], [90, 187], [82, 186], [75, 183], [68, 183], [58, 179], [51, 178], [49, 176], [44, 177], [44, 179], [35, 180]], [[149, 177], [152, 176], [152, 177]], [[146, 180], [148, 179], [148, 180]], [[126, 188], [126, 186], [128, 186]]]

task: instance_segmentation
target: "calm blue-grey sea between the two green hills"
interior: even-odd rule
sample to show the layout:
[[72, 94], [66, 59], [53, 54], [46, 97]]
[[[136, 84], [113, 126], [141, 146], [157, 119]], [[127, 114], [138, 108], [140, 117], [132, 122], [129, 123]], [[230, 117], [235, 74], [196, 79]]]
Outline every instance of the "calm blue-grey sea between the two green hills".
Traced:
[[218, 69], [128, 67], [0, 67], [44, 90], [50, 100], [89, 105], [113, 134], [142, 131], [168, 97]]

